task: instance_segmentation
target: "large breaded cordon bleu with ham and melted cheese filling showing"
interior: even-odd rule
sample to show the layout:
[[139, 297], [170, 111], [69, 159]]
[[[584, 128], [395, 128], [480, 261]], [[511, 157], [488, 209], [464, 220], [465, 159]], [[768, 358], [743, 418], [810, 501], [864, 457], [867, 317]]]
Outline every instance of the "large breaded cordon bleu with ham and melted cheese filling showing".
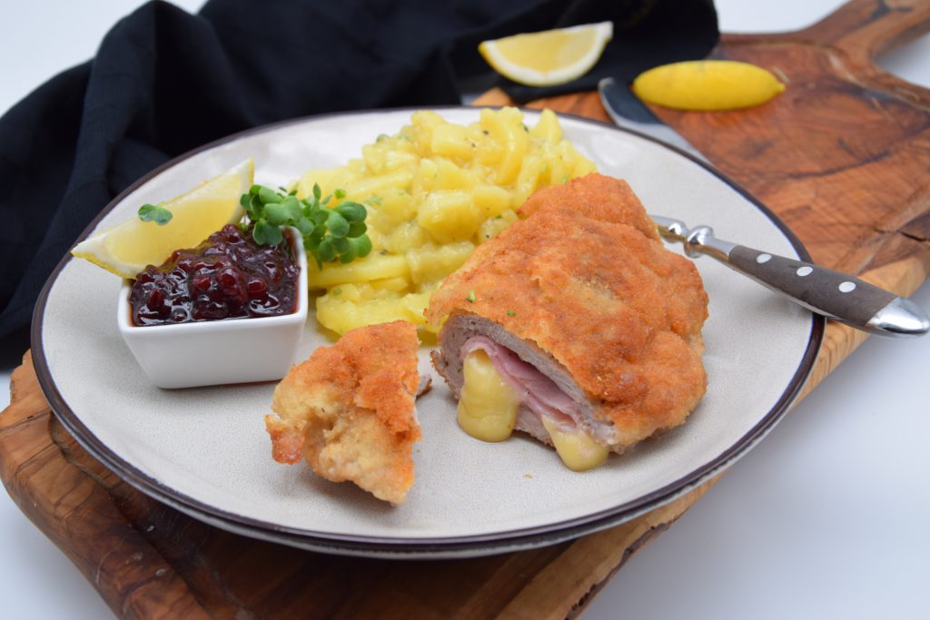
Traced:
[[459, 426], [489, 442], [525, 431], [584, 470], [683, 424], [707, 387], [694, 264], [615, 178], [537, 191], [519, 215], [426, 311]]

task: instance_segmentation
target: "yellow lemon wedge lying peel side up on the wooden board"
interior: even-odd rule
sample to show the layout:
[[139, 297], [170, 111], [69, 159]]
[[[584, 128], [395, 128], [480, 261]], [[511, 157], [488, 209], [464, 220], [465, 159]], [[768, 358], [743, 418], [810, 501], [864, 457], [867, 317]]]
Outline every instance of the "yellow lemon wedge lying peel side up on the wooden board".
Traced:
[[760, 105], [785, 89], [772, 73], [737, 60], [686, 60], [633, 80], [637, 97], [677, 110], [736, 110]]

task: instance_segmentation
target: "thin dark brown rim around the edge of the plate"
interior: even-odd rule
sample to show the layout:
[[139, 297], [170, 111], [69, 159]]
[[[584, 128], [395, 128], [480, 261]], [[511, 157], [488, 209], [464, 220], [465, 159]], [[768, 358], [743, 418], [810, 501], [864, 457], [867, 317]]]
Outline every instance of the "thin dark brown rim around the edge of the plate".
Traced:
[[[497, 106], [485, 106], [497, 107]], [[150, 179], [164, 172], [166, 169], [179, 165], [181, 162], [192, 157], [193, 155], [216, 148], [223, 144], [228, 144], [234, 140], [251, 137], [257, 134], [265, 133], [271, 130], [279, 129], [287, 125], [302, 125], [304, 123], [319, 121], [329, 117], [361, 115], [383, 112], [416, 112], [417, 110], [474, 110], [466, 106], [430, 106], [429, 108], [392, 108], [382, 110], [359, 110], [352, 112], [330, 112], [306, 116], [296, 119], [289, 119], [272, 125], [262, 125], [246, 129], [245, 131], [227, 136], [226, 138], [214, 140], [193, 151], [183, 153], [178, 157], [158, 166], [153, 171], [138, 179], [125, 191], [116, 196], [110, 204], [100, 212], [97, 218], [86, 227], [79, 237], [85, 239], [93, 231], [97, 224], [106, 214], [108, 214], [116, 204], [121, 203], [126, 196], [140, 188], [141, 185]], [[536, 114], [538, 110], [523, 109], [523, 112]], [[804, 244], [790, 231], [788, 226], [781, 221], [768, 207], [760, 203], [749, 191], [740, 187], [736, 182], [724, 176], [722, 172], [711, 165], [701, 162], [691, 154], [680, 149], [665, 144], [658, 139], [644, 135], [637, 131], [632, 131], [624, 127], [610, 125], [601, 121], [591, 120], [575, 114], [558, 112], [560, 117], [571, 118], [583, 124], [601, 126], [605, 131], [619, 131], [622, 133], [632, 134], [641, 139], [646, 139], [657, 143], [672, 152], [677, 152], [696, 165], [703, 167], [714, 177], [720, 178], [727, 185], [737, 191], [743, 198], [753, 204], [766, 218], [776, 225], [777, 229], [789, 240], [798, 256], [805, 261], [810, 261], [810, 254], [804, 248]], [[824, 327], [826, 320], [817, 314], [811, 314], [811, 331], [807, 341], [807, 348], [804, 350], [801, 363], [791, 377], [790, 382], [781, 394], [781, 397], [775, 405], [759, 420], [759, 422], [743, 435], [737, 442], [731, 445], [722, 454], [713, 458], [710, 462], [693, 469], [686, 476], [677, 481], [663, 486], [652, 493], [642, 495], [630, 502], [620, 504], [613, 508], [591, 513], [576, 519], [559, 521], [541, 525], [538, 527], [504, 531], [491, 534], [478, 534], [466, 536], [450, 536], [442, 538], [392, 538], [387, 536], [361, 536], [345, 534], [325, 534], [304, 530], [299, 528], [285, 527], [268, 521], [260, 521], [238, 515], [226, 510], [220, 510], [208, 504], [205, 504], [193, 497], [184, 495], [175, 489], [167, 486], [161, 481], [143, 473], [140, 469], [127, 463], [122, 457], [113, 453], [113, 451], [100, 440], [84, 425], [80, 416], [77, 416], [68, 406], [68, 403], [62, 398], [58, 388], [51, 376], [46, 361], [45, 350], [42, 347], [42, 321], [45, 315], [48, 292], [52, 285], [58, 279], [60, 271], [72, 259], [71, 254], [66, 254], [61, 258], [55, 270], [48, 277], [45, 286], [33, 310], [33, 323], [31, 328], [31, 339], [33, 348], [33, 365], [36, 376], [38, 376], [39, 386], [45, 394], [46, 400], [51, 406], [55, 416], [58, 417], [61, 424], [68, 429], [74, 439], [79, 442], [88, 453], [93, 455], [100, 462], [119, 475], [123, 480], [134, 486], [146, 495], [179, 509], [198, 520], [206, 521], [222, 529], [233, 531], [237, 534], [245, 534], [254, 538], [279, 542], [292, 547], [303, 547], [316, 551], [327, 553], [338, 553], [343, 555], [358, 556], [379, 556], [389, 558], [403, 559], [432, 559], [432, 558], [451, 558], [467, 557], [478, 555], [490, 555], [493, 553], [503, 553], [531, 547], [543, 547], [563, 542], [568, 539], [577, 538], [584, 534], [603, 530], [613, 525], [618, 525], [624, 521], [629, 521], [645, 512], [667, 504], [675, 498], [686, 494], [698, 484], [709, 480], [724, 468], [732, 465], [739, 456], [744, 455], [757, 442], [762, 440], [765, 434], [774, 428], [777, 421], [787, 413], [791, 402], [798, 395], [804, 386], [804, 381], [810, 373], [817, 357], [817, 351], [823, 339]]]

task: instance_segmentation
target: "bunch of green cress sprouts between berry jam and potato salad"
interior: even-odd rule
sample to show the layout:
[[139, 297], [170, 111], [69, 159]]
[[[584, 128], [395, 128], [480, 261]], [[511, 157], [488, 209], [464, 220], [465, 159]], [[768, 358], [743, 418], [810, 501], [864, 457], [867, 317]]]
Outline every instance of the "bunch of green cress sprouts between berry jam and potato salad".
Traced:
[[252, 237], [260, 245], [280, 244], [280, 226], [293, 226], [303, 235], [303, 246], [316, 259], [316, 264], [339, 260], [352, 262], [371, 252], [371, 240], [365, 231], [365, 205], [343, 201], [333, 208], [326, 204], [336, 196], [345, 197], [345, 191], [337, 190], [321, 200], [320, 186], [313, 184], [313, 195], [299, 199], [297, 190], [272, 190], [264, 185], [253, 185], [244, 193], [240, 204], [246, 209], [248, 218], [255, 227]]

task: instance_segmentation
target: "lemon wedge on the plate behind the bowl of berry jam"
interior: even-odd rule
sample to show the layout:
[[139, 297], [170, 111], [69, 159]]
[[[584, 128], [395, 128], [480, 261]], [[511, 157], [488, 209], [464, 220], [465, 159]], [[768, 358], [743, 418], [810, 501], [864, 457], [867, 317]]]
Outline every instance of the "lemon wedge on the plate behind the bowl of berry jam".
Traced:
[[147, 265], [160, 265], [175, 250], [193, 247], [242, 219], [239, 198], [252, 186], [254, 175], [249, 158], [160, 204], [172, 216], [165, 225], [132, 218], [75, 245], [71, 253], [120, 277], [135, 278]]

